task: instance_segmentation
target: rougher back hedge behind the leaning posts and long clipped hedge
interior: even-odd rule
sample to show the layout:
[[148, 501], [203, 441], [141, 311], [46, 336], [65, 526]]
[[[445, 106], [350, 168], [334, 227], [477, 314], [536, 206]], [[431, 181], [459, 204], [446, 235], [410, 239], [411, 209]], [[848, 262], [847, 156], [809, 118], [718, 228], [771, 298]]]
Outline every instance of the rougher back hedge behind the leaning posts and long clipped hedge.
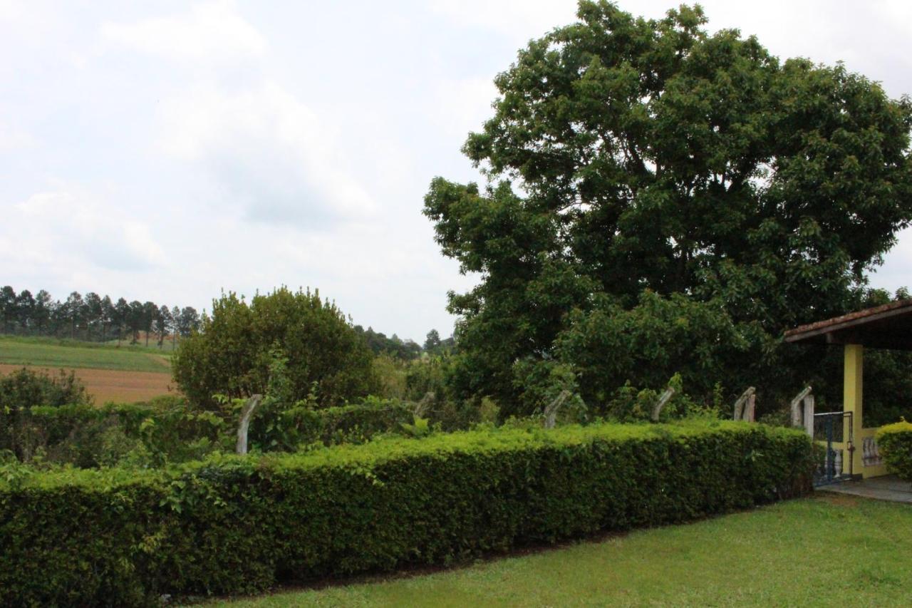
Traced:
[[[237, 423], [195, 411], [180, 397], [149, 403], [18, 407], [15, 425], [0, 425], [0, 451], [20, 460], [80, 467], [112, 466], [126, 459], [148, 466], [198, 459], [216, 449], [233, 451]], [[263, 452], [295, 451], [321, 442], [364, 443], [380, 433], [402, 433], [413, 422], [408, 404], [368, 397], [361, 404], [257, 412], [250, 446]]]

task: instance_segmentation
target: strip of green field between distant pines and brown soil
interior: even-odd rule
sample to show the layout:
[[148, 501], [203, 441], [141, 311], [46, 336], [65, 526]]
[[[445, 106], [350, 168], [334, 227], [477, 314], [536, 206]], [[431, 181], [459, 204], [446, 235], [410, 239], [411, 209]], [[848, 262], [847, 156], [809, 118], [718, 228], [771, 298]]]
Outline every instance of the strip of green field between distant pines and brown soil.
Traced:
[[169, 372], [168, 355], [142, 347], [0, 336], [0, 363], [131, 372]]

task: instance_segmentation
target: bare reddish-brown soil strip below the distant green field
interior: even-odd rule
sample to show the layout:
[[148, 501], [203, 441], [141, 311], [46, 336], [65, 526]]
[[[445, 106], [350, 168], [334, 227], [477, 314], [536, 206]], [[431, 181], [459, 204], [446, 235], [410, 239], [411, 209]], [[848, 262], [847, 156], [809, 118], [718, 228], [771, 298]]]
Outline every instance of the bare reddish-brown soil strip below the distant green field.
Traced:
[[[14, 372], [22, 369], [22, 365], [8, 365], [0, 363], [0, 374]], [[31, 366], [29, 366], [31, 367]], [[58, 368], [34, 368], [45, 370], [52, 375], [57, 374]], [[153, 372], [124, 372], [121, 370], [92, 370], [74, 368], [73, 372], [95, 397], [96, 404], [109, 401], [118, 403], [133, 403], [145, 401], [161, 394], [174, 394], [177, 388], [171, 385], [170, 373]]]

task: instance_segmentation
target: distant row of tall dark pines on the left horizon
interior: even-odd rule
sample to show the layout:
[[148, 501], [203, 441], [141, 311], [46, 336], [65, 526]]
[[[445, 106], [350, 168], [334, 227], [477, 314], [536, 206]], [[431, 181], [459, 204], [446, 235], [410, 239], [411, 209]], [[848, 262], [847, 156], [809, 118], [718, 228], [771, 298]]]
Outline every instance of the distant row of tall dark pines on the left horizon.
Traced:
[[85, 296], [73, 291], [67, 299], [54, 299], [45, 289], [36, 295], [28, 289], [18, 294], [9, 285], [0, 288], [0, 331], [25, 336], [52, 336], [85, 341], [140, 341], [146, 346], [150, 336], [159, 348], [166, 339], [171, 345], [178, 337], [189, 336], [200, 328], [200, 314], [192, 306], [169, 308], [155, 302], [140, 302], [94, 291]]

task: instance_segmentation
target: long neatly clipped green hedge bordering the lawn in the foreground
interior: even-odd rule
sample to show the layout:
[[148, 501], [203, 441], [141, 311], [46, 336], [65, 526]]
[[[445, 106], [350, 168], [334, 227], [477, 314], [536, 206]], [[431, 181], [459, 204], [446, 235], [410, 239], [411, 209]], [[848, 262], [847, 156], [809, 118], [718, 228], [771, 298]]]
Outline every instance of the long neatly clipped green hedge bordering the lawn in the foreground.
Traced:
[[0, 480], [0, 604], [130, 605], [445, 564], [810, 489], [800, 431], [496, 429]]

